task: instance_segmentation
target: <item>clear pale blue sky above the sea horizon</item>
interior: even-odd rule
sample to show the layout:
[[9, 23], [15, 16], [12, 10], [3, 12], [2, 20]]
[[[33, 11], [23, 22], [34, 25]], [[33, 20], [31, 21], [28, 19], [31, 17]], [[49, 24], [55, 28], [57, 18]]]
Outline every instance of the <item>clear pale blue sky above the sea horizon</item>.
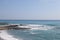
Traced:
[[60, 20], [60, 0], [0, 0], [0, 19]]

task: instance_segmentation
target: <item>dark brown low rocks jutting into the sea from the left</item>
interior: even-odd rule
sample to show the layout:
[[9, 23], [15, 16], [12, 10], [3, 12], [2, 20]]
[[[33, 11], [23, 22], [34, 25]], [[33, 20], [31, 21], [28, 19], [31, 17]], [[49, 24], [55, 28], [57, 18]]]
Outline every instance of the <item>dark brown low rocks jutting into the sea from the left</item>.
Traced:
[[25, 29], [30, 29], [30, 28], [25, 28], [25, 27], [18, 27], [18, 26], [23, 26], [23, 25], [16, 25], [16, 24], [13, 24], [13, 25], [3, 25], [3, 26], [0, 26], [0, 30], [11, 30], [11, 29], [14, 29], [14, 30], [25, 30]]

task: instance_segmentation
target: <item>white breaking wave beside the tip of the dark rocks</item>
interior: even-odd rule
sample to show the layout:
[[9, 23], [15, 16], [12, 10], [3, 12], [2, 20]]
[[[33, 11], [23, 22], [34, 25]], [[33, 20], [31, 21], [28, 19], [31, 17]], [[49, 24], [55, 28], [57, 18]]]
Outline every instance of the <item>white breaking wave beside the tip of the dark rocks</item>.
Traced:
[[49, 30], [54, 28], [53, 26], [38, 25], [38, 24], [27, 24], [27, 25], [22, 24], [22, 26], [18, 26], [18, 27], [30, 28], [30, 30]]

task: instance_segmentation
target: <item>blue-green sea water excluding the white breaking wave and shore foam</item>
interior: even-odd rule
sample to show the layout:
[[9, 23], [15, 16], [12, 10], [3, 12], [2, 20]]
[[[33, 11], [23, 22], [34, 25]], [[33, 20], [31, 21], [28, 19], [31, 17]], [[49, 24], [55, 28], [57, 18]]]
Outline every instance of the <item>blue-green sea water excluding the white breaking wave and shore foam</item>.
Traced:
[[8, 30], [8, 34], [23, 40], [60, 40], [60, 21], [59, 20], [0, 20], [12, 24], [38, 24], [46, 25], [51, 29], [47, 30]]

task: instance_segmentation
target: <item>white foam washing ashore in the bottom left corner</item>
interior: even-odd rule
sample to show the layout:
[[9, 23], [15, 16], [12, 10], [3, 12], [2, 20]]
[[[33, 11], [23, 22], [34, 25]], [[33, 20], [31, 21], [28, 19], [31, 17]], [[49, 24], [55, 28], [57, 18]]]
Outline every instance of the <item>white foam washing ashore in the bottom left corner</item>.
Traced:
[[[12, 35], [9, 35], [6, 30], [0, 31], [0, 37], [4, 40], [18, 40], [17, 38], [14, 38]], [[22, 40], [22, 39], [20, 39]]]

